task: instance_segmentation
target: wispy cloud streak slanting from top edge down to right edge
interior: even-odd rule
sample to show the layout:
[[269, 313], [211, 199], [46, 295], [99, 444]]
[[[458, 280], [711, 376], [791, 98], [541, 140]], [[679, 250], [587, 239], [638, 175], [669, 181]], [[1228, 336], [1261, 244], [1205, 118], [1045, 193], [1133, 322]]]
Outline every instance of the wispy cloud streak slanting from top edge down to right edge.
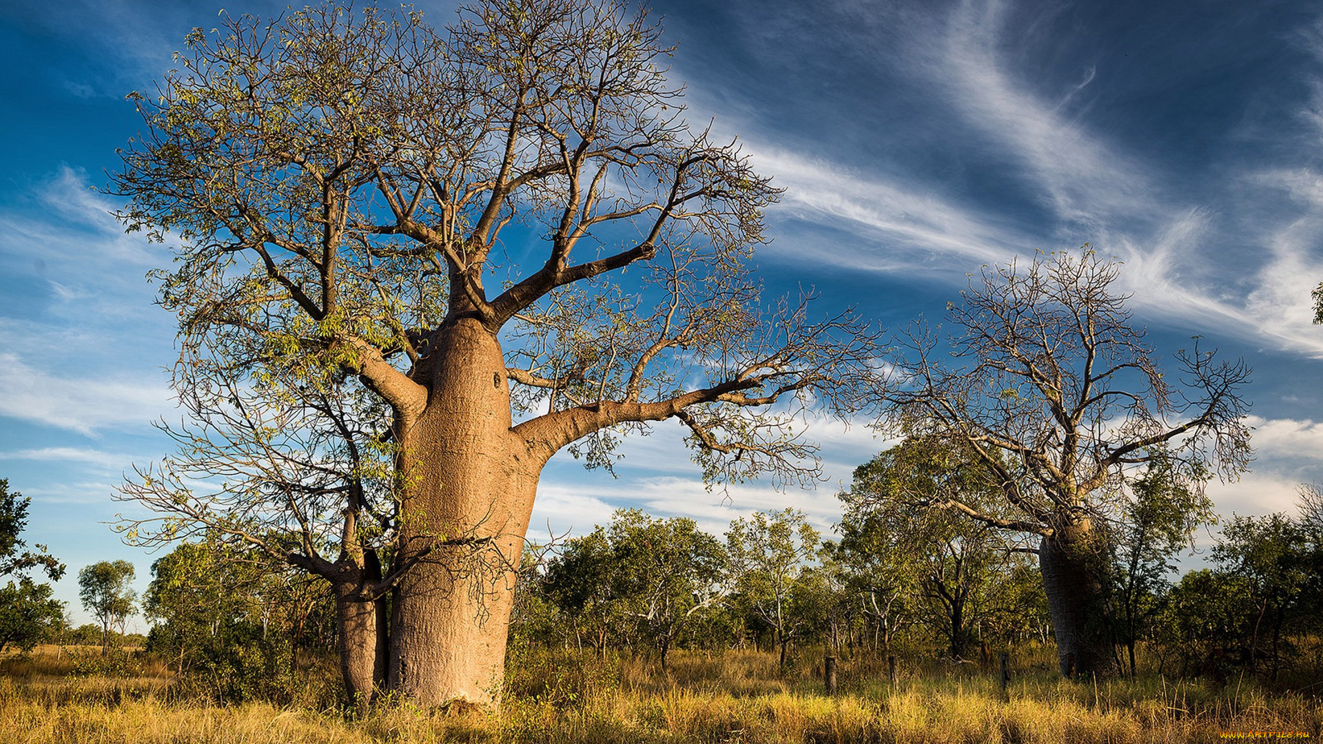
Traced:
[[[955, 91], [957, 109], [1019, 159], [1028, 183], [1049, 196], [1062, 224], [1095, 230], [1098, 248], [1126, 262], [1122, 281], [1138, 308], [1323, 356], [1323, 338], [1307, 323], [1308, 289], [1323, 278], [1323, 263], [1310, 259], [1307, 250], [1310, 241], [1323, 237], [1316, 220], [1212, 234], [1209, 207], [1168, 193], [1158, 185], [1164, 177], [1155, 172], [1156, 164], [1106, 142], [1065, 115], [1062, 102], [1035, 94], [1028, 81], [1009, 71], [1002, 37], [1009, 7], [1004, 0], [966, 0], [950, 19], [941, 53], [929, 58], [929, 73]], [[1086, 82], [1093, 78], [1090, 69]], [[1256, 181], [1282, 179], [1233, 171], [1225, 179], [1229, 192], [1215, 199], [1250, 212], [1275, 201], [1263, 188], [1252, 188]], [[1318, 205], [1319, 183], [1308, 173], [1291, 185]], [[1246, 244], [1259, 249], [1262, 261], [1257, 274], [1242, 282], [1249, 289], [1237, 291], [1216, 271], [1216, 254], [1244, 252]]]

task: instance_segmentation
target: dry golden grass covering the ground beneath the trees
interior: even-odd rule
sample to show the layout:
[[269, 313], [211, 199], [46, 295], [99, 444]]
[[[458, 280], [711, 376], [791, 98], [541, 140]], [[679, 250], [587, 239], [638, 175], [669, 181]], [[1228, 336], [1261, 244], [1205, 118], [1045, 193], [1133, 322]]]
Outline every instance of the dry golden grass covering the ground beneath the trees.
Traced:
[[[0, 741], [15, 744], [314, 743], [1201, 743], [1222, 732], [1298, 731], [1316, 739], [1318, 700], [1267, 695], [1249, 682], [1062, 680], [1024, 655], [1003, 698], [967, 666], [841, 663], [841, 694], [820, 694], [812, 665], [782, 676], [770, 654], [677, 653], [665, 675], [647, 659], [525, 653], [499, 715], [385, 706], [361, 718], [327, 702], [216, 706], [177, 699], [169, 673], [75, 671], [38, 653], [0, 661]], [[123, 670], [122, 670], [123, 671]], [[316, 671], [328, 674], [328, 671]]]

